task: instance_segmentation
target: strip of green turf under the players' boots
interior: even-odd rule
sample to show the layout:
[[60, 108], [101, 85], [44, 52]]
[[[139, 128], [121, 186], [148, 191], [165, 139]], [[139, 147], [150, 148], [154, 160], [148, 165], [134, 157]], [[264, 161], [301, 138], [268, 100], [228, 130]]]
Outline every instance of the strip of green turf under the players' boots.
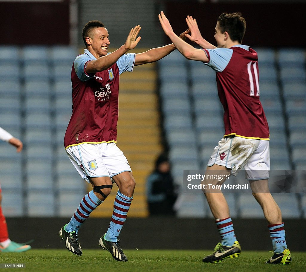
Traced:
[[146, 272], [146, 271], [220, 271], [266, 272], [306, 271], [306, 252], [292, 252], [289, 265], [264, 264], [270, 252], [243, 251], [238, 258], [225, 259], [221, 263], [202, 263], [211, 251], [192, 250], [125, 250], [129, 261], [117, 262], [102, 249], [84, 249], [78, 257], [65, 249], [31, 249], [24, 253], [2, 253], [0, 263], [24, 263], [25, 268], [0, 268], [0, 271], [81, 271], [81, 272]]

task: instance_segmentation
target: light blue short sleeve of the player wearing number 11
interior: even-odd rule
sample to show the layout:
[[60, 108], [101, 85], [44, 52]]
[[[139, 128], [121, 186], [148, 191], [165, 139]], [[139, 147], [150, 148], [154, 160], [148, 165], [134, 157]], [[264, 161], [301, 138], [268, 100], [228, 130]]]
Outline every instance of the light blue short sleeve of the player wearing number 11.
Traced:
[[205, 49], [205, 51], [209, 54], [209, 61], [204, 64], [210, 66], [217, 72], [222, 72], [226, 68], [233, 55], [233, 49], [230, 48], [219, 47], [215, 49]]

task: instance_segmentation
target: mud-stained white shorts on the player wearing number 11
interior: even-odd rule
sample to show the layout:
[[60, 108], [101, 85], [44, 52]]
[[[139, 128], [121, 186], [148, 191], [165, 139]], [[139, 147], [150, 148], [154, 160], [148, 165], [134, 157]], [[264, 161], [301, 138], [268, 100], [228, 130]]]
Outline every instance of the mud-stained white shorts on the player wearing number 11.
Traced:
[[270, 147], [268, 140], [225, 137], [218, 142], [207, 166], [214, 164], [231, 169], [236, 176], [244, 168], [247, 180], [269, 178]]

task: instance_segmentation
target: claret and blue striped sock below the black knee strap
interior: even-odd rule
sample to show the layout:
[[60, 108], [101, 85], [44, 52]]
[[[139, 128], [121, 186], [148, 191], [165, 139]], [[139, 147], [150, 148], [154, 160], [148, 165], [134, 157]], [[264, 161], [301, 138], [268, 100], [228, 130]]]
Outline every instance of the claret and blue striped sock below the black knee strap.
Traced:
[[90, 191], [83, 197], [80, 206], [77, 208], [69, 223], [65, 226], [65, 231], [78, 232], [81, 225], [89, 217], [89, 214], [95, 210], [103, 201], [100, 200], [93, 191]]

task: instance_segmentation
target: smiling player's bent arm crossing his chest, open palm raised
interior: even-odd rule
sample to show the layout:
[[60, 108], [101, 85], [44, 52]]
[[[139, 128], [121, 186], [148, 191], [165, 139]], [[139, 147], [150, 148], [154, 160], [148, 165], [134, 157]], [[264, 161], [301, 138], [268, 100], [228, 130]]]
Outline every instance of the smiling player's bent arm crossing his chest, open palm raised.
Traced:
[[118, 61], [118, 59], [123, 54], [125, 54], [131, 49], [134, 49], [141, 39], [141, 37], [137, 37], [137, 35], [140, 32], [140, 29], [141, 29], [140, 25], [136, 25], [135, 28], [132, 28], [125, 41], [125, 44], [122, 45], [117, 50], [115, 50], [114, 52], [112, 52], [111, 54], [102, 56], [97, 60], [89, 61], [85, 69], [86, 73], [92, 74], [103, 71], [109, 68], [111, 65], [113, 65], [116, 61]]

